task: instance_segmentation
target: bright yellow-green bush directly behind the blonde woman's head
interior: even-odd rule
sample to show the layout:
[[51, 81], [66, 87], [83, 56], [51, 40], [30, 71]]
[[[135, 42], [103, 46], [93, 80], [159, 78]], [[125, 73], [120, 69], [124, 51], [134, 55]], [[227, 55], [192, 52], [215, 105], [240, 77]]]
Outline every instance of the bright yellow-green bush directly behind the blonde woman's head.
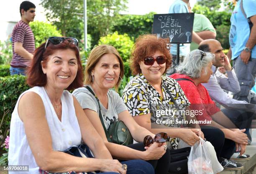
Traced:
[[118, 32], [114, 32], [112, 35], [100, 37], [99, 45], [106, 44], [115, 47], [123, 61], [126, 62], [131, 56], [131, 50], [134, 42], [127, 34], [118, 35]]

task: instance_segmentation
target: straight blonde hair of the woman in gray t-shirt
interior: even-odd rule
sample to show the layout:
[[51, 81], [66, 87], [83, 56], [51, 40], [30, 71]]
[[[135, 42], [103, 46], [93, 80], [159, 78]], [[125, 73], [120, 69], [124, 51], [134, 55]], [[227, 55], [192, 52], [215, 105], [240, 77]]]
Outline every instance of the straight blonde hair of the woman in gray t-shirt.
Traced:
[[[120, 63], [120, 77], [123, 78], [124, 75], [124, 67], [123, 67], [123, 60], [119, 55], [118, 51], [115, 47], [110, 45], [99, 45], [92, 49], [89, 58], [87, 60], [87, 65], [84, 72], [84, 85], [91, 85], [92, 84], [92, 70], [99, 62], [101, 57], [105, 54], [114, 54]], [[118, 90], [118, 86], [120, 85], [121, 78], [118, 79], [118, 82], [115, 84], [115, 90]]]

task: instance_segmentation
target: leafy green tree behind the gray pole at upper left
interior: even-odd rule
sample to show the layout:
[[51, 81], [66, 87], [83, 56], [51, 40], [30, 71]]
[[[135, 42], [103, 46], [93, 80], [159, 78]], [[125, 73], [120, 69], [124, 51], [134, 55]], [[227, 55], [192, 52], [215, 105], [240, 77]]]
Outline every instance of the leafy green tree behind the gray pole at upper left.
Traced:
[[[84, 32], [84, 0], [42, 0], [46, 17], [53, 22], [63, 36], [82, 39]], [[97, 44], [101, 36], [110, 32], [119, 12], [125, 10], [127, 0], [87, 0], [87, 33], [92, 35], [92, 45]]]

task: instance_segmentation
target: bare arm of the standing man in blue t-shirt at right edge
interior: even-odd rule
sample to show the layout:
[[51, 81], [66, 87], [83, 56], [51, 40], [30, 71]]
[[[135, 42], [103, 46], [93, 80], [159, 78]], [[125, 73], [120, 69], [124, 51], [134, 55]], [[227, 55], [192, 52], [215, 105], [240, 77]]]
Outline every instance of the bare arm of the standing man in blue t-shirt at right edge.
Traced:
[[[252, 49], [254, 47], [254, 45], [256, 44], [256, 15], [251, 16], [250, 20], [253, 23], [253, 27], [251, 28], [251, 34], [246, 43], [246, 47]], [[251, 57], [251, 52], [246, 52], [245, 50], [243, 50], [241, 52], [241, 60], [245, 64], [248, 63], [250, 57]]]

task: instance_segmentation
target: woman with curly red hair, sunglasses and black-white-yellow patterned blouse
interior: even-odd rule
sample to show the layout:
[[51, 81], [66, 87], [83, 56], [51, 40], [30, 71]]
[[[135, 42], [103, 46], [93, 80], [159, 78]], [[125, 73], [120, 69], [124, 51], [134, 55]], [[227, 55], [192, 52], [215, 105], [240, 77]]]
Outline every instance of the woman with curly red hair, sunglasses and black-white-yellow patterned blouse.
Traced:
[[[156, 35], [138, 37], [132, 53], [132, 70], [136, 76], [126, 85], [123, 91], [123, 100], [130, 114], [136, 122], [152, 133], [166, 132], [171, 139], [170, 149], [177, 149], [179, 140], [192, 146], [199, 137], [204, 138], [198, 124], [196, 129], [169, 129], [170, 127], [184, 127], [180, 122], [186, 117], [184, 114], [174, 114], [171, 119], [168, 114], [159, 116], [158, 110], [166, 107], [169, 110], [187, 110], [189, 101], [179, 84], [163, 74], [171, 65], [172, 56], [167, 45], [168, 39], [158, 38]], [[171, 94], [171, 96], [170, 96]], [[151, 123], [163, 126], [163, 129], [152, 129]], [[181, 144], [180, 144], [181, 145]]]

